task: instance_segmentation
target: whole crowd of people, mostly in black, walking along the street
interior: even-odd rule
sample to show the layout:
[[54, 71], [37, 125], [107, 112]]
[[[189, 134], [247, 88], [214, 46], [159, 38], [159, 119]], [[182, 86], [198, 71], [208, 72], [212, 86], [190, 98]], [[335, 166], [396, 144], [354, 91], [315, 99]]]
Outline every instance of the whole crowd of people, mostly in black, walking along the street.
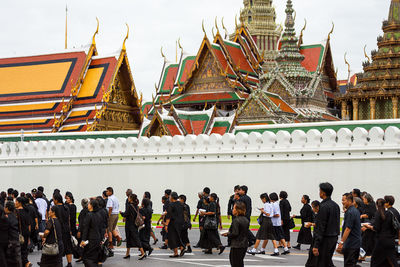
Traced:
[[[393, 196], [375, 202], [371, 194], [359, 189], [344, 193], [341, 224], [341, 208], [331, 199], [333, 186], [322, 183], [319, 191], [321, 202], [311, 202], [308, 195], [302, 196], [299, 215], [292, 214], [287, 192], [261, 194], [262, 207], [258, 208], [257, 219], [260, 228], [254, 236], [250, 231], [252, 200], [247, 186], [235, 186], [229, 198], [227, 214], [232, 220], [229, 231], [222, 231], [219, 197], [210, 188], [205, 187], [198, 194], [193, 217], [186, 196], [167, 189], [161, 200], [163, 213], [157, 222], [162, 225], [160, 249], [170, 249], [171, 258], [191, 253], [188, 231], [192, 229], [192, 222], [198, 221], [200, 238], [194, 247], [201, 248], [205, 254], [212, 254], [213, 249], [222, 254], [226, 246], [220, 236], [225, 236], [234, 267], [244, 266], [246, 254], [266, 254], [269, 241], [273, 245], [271, 256], [288, 255], [291, 249], [307, 246], [309, 256], [305, 266], [334, 266], [335, 251], [343, 254], [344, 266], [358, 266], [368, 256], [371, 256], [371, 266], [398, 266], [395, 240], [400, 238], [400, 214], [393, 207]], [[101, 266], [122, 242], [126, 242], [123, 259], [129, 260], [131, 249], [136, 248], [138, 260], [144, 260], [152, 254], [152, 245], [158, 242], [152, 227], [151, 194], [145, 192], [140, 200], [128, 189], [126, 197], [125, 209], [121, 211], [113, 188], [108, 187], [101, 196], [82, 199], [77, 217], [71, 192], [63, 197], [55, 189], [49, 199], [42, 186], [30, 193], [19, 193], [12, 188], [1, 192], [0, 266], [33, 266], [29, 253], [34, 249], [42, 251], [40, 266], [61, 267], [64, 257], [67, 267], [72, 266], [73, 257], [85, 266]], [[125, 240], [118, 228], [120, 216], [125, 223]], [[301, 220], [301, 228], [297, 245], [292, 247], [290, 233], [296, 227], [294, 219]]]

